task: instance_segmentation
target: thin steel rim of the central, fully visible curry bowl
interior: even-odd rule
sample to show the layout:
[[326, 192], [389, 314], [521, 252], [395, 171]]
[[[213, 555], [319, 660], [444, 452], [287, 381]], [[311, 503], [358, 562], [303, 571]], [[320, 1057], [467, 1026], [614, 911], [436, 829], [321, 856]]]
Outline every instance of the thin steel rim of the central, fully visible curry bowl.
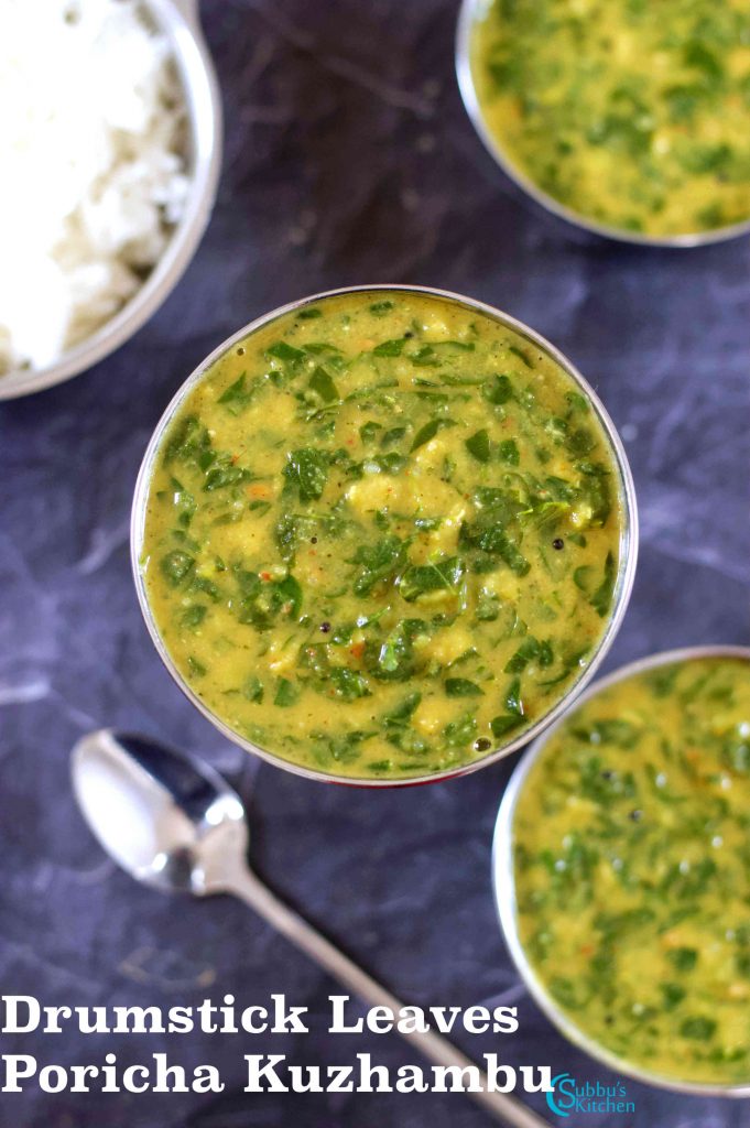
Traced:
[[[444, 772], [431, 773], [425, 776], [411, 776], [405, 779], [360, 779], [350, 776], [337, 776], [327, 772], [317, 772], [310, 768], [302, 767], [298, 764], [292, 764], [289, 760], [283, 759], [281, 756], [276, 756], [274, 752], [270, 752], [266, 749], [259, 748], [252, 741], [241, 737], [239, 733], [230, 729], [219, 716], [217, 716], [206, 705], [196, 696], [191, 689], [187, 682], [184, 680], [179, 671], [176, 669], [167, 647], [165, 646], [161, 636], [157, 629], [157, 625], [151, 615], [151, 608], [149, 606], [145, 583], [143, 578], [143, 572], [141, 567], [141, 556], [143, 549], [143, 532], [145, 522], [145, 505], [148, 499], [149, 483], [151, 481], [152, 468], [155, 465], [155, 459], [158, 456], [159, 449], [161, 447], [165, 432], [169, 428], [175, 413], [182, 406], [186, 396], [191, 394], [195, 385], [202, 379], [203, 374], [206, 372], [211, 365], [219, 360], [224, 353], [229, 352], [237, 345], [240, 341], [248, 336], [248, 334], [261, 329], [263, 326], [268, 325], [271, 321], [276, 320], [279, 317], [292, 312], [293, 310], [301, 309], [305, 306], [315, 305], [325, 298], [337, 297], [339, 294], [347, 293], [378, 293], [378, 292], [394, 292], [400, 291], [404, 293], [422, 293], [432, 296], [434, 298], [441, 298], [451, 302], [458, 302], [466, 309], [476, 310], [477, 312], [484, 314], [488, 317], [494, 318], [503, 327], [513, 329], [520, 336], [526, 338], [536, 349], [541, 352], [547, 353], [553, 360], [555, 360], [561, 368], [567, 372], [571, 379], [581, 388], [584, 396], [591, 403], [593, 411], [611, 444], [615, 453], [615, 459], [617, 462], [617, 468], [619, 472], [619, 483], [618, 490], [623, 505], [623, 532], [620, 537], [619, 545], [619, 567], [617, 580], [615, 583], [615, 592], [612, 597], [612, 610], [607, 625], [607, 629], [602, 635], [599, 646], [592, 654], [589, 664], [582, 670], [579, 679], [573, 684], [565, 697], [559, 700], [555, 706], [553, 706], [547, 714], [540, 717], [530, 729], [523, 732], [521, 735], [502, 744], [498, 748], [491, 750], [486, 756], [479, 757], [473, 760], [470, 764], [465, 764], [459, 767], [452, 767], [445, 769]], [[623, 616], [625, 615], [625, 609], [627, 607], [628, 599], [630, 597], [630, 590], [633, 588], [633, 580], [635, 576], [635, 566], [637, 557], [637, 546], [638, 546], [638, 519], [636, 510], [635, 500], [635, 487], [633, 484], [633, 476], [630, 474], [630, 468], [628, 466], [627, 457], [625, 455], [625, 449], [617, 434], [615, 426], [607, 414], [603, 405], [601, 404], [599, 397], [593, 391], [591, 386], [581, 376], [581, 373], [575, 369], [568, 360], [554, 345], [549, 344], [544, 337], [539, 336], [532, 329], [529, 329], [521, 321], [517, 321], [515, 318], [509, 317], [506, 314], [501, 314], [498, 310], [493, 309], [492, 306], [487, 306], [484, 302], [475, 301], [471, 298], [465, 298], [460, 294], [450, 293], [445, 290], [436, 290], [431, 287], [418, 287], [418, 285], [358, 285], [358, 287], [344, 287], [341, 290], [329, 290], [324, 293], [314, 294], [310, 298], [303, 298], [299, 301], [290, 302], [288, 306], [282, 306], [279, 309], [273, 310], [271, 314], [265, 314], [263, 317], [258, 317], [256, 320], [250, 321], [249, 325], [245, 325], [237, 333], [233, 333], [231, 337], [223, 341], [218, 349], [211, 353], [195, 371], [187, 378], [185, 384], [179, 388], [164, 415], [161, 416], [157, 428], [151, 435], [149, 441], [141, 468], [138, 475], [138, 482], [135, 485], [135, 495], [133, 499], [133, 509], [131, 518], [131, 562], [133, 567], [133, 576], [135, 580], [135, 590], [138, 592], [139, 602], [141, 605], [141, 611], [145, 620], [145, 625], [149, 629], [153, 644], [161, 656], [162, 662], [171, 673], [173, 678], [183, 690], [185, 696], [195, 705], [196, 708], [203, 713], [204, 716], [212, 722], [212, 724], [229, 740], [245, 748], [248, 752], [254, 752], [256, 756], [261, 756], [263, 759], [275, 764], [277, 767], [282, 767], [288, 772], [293, 772], [297, 775], [307, 776], [311, 779], [326, 779], [330, 783], [345, 783], [345, 784], [360, 784], [368, 787], [392, 787], [392, 786], [408, 786], [418, 783], [433, 783], [438, 779], [449, 778], [451, 776], [466, 775], [469, 772], [476, 772], [478, 768], [487, 767], [489, 764], [494, 764], [497, 759], [503, 756], [508, 756], [510, 752], [515, 751], [521, 748], [529, 740], [533, 739], [538, 733], [546, 729], [556, 717], [558, 717], [570, 705], [571, 700], [579, 694], [583, 686], [591, 679], [595, 670], [598, 669], [600, 662], [605, 658], [607, 651], [609, 650], [615, 635], [617, 634], [620, 623], [623, 622]]]

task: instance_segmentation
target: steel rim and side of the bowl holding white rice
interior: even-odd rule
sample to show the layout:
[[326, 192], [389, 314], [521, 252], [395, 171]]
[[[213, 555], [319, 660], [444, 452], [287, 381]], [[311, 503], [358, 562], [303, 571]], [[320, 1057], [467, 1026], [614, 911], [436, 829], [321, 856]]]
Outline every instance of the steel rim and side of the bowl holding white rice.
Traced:
[[124, 344], [175, 289], [209, 222], [221, 168], [222, 115], [217, 76], [198, 24], [197, 0], [144, 0], [143, 9], [173, 49], [185, 95], [189, 188], [183, 217], [164, 255], [122, 309], [54, 364], [1, 376], [0, 399], [27, 396], [69, 380]]

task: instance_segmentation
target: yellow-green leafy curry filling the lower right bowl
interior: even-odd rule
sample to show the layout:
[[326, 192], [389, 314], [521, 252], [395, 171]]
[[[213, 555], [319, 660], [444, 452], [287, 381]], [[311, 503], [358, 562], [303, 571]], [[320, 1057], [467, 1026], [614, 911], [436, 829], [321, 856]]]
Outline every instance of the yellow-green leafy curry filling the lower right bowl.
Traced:
[[514, 814], [520, 938], [583, 1033], [750, 1083], [750, 666], [660, 666], [550, 738]]

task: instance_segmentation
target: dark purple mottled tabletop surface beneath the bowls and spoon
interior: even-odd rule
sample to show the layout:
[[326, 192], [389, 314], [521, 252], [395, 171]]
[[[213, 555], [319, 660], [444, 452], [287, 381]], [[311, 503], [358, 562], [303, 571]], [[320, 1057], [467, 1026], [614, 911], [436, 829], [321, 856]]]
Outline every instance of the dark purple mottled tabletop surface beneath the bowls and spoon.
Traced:
[[[512, 763], [452, 783], [360, 792], [229, 747], [183, 699], [147, 636], [129, 506], [147, 439], [188, 371], [276, 305], [346, 283], [465, 292], [552, 338], [598, 388], [632, 459], [638, 578], [608, 667], [676, 645], [748, 642], [748, 240], [694, 252], [577, 236], [528, 205], [485, 155], [452, 72], [447, 0], [211, 0], [224, 94], [219, 203], [158, 316], [90, 373], [0, 406], [0, 985], [47, 1004], [244, 1005], [284, 992], [306, 1038], [3, 1038], [42, 1063], [122, 1064], [167, 1049], [218, 1065], [218, 1098], [0, 1096], [8, 1128], [484, 1128], [460, 1095], [247, 1096], [242, 1054], [418, 1060], [396, 1036], [329, 1038], [329, 982], [240, 905], [173, 901], [103, 858], [73, 805], [86, 730], [140, 729], [211, 758], [242, 791], [253, 857], [284, 897], [405, 1001], [520, 1007], [514, 1038], [467, 1052], [607, 1072], [519, 985], [495, 923], [489, 844]], [[317, 1015], [317, 1017], [315, 1017]], [[611, 1078], [610, 1078], [611, 1079]], [[739, 1128], [744, 1102], [628, 1083], [634, 1118], [576, 1125]], [[537, 1101], [537, 1107], [541, 1104]], [[549, 1113], [549, 1119], [554, 1118]]]

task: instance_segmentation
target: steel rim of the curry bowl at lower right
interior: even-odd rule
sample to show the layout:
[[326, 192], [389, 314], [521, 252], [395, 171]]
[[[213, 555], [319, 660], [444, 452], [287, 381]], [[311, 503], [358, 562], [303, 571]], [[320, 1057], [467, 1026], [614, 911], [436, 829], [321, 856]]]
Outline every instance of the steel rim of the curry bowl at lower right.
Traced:
[[[591, 700], [602, 689], [607, 689], [609, 686], [614, 686], [625, 678], [642, 673], [644, 670], [652, 670], [659, 666], [669, 666], [672, 662], [683, 662], [695, 658], [739, 658], [750, 662], [750, 646], [687, 646], [682, 650], [664, 651], [661, 654], [653, 654], [651, 658], [638, 659], [636, 662], [629, 662], [608, 677], [597, 681], [581, 695], [575, 707], [577, 708], [577, 706]], [[511, 776], [511, 781], [505, 788], [500, 804], [500, 811], [497, 812], [492, 847], [492, 882], [495, 896], [495, 909], [505, 944], [518, 972], [537, 1006], [544, 1011], [561, 1033], [570, 1042], [573, 1042], [574, 1046], [589, 1054], [590, 1057], [602, 1061], [608, 1068], [624, 1074], [626, 1077], [633, 1077], [635, 1081], [642, 1081], [648, 1085], [655, 1085], [659, 1089], [668, 1089], [678, 1093], [696, 1093], [704, 1096], [750, 1096], [750, 1082], [745, 1085], [712, 1085], [703, 1082], [679, 1081], [674, 1077], [663, 1077], [661, 1074], [652, 1073], [648, 1069], [642, 1069], [626, 1058], [620, 1058], [616, 1054], [610, 1052], [603, 1046], [600, 1046], [599, 1042], [589, 1038], [588, 1034], [567, 1017], [547, 992], [547, 988], [527, 958], [518, 928], [518, 902], [513, 870], [513, 818], [529, 772], [541, 755], [550, 737], [555, 734], [561, 724], [567, 721], [574, 712], [575, 710], [572, 710], [566, 716], [558, 719], [555, 724], [552, 724], [523, 756]]]

